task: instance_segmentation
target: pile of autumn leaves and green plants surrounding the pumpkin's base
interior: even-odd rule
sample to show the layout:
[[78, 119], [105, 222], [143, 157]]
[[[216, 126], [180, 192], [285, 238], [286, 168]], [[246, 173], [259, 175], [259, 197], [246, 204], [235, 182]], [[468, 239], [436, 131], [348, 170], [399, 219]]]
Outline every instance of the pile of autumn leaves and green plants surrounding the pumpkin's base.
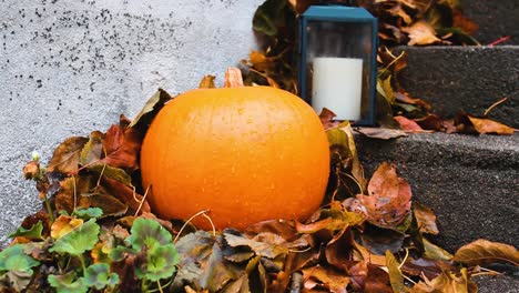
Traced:
[[327, 195], [306, 222], [207, 232], [157, 219], [138, 154], [171, 99], [160, 90], [132, 122], [122, 115], [105, 133], [67, 139], [47, 168], [38, 158], [26, 165], [44, 205], [0, 252], [2, 292], [476, 292], [479, 265], [519, 264], [501, 243], [479, 240], [451, 255], [429, 242], [439, 233], [434, 212], [387, 163], [366, 179], [352, 127], [326, 124], [329, 113]]

